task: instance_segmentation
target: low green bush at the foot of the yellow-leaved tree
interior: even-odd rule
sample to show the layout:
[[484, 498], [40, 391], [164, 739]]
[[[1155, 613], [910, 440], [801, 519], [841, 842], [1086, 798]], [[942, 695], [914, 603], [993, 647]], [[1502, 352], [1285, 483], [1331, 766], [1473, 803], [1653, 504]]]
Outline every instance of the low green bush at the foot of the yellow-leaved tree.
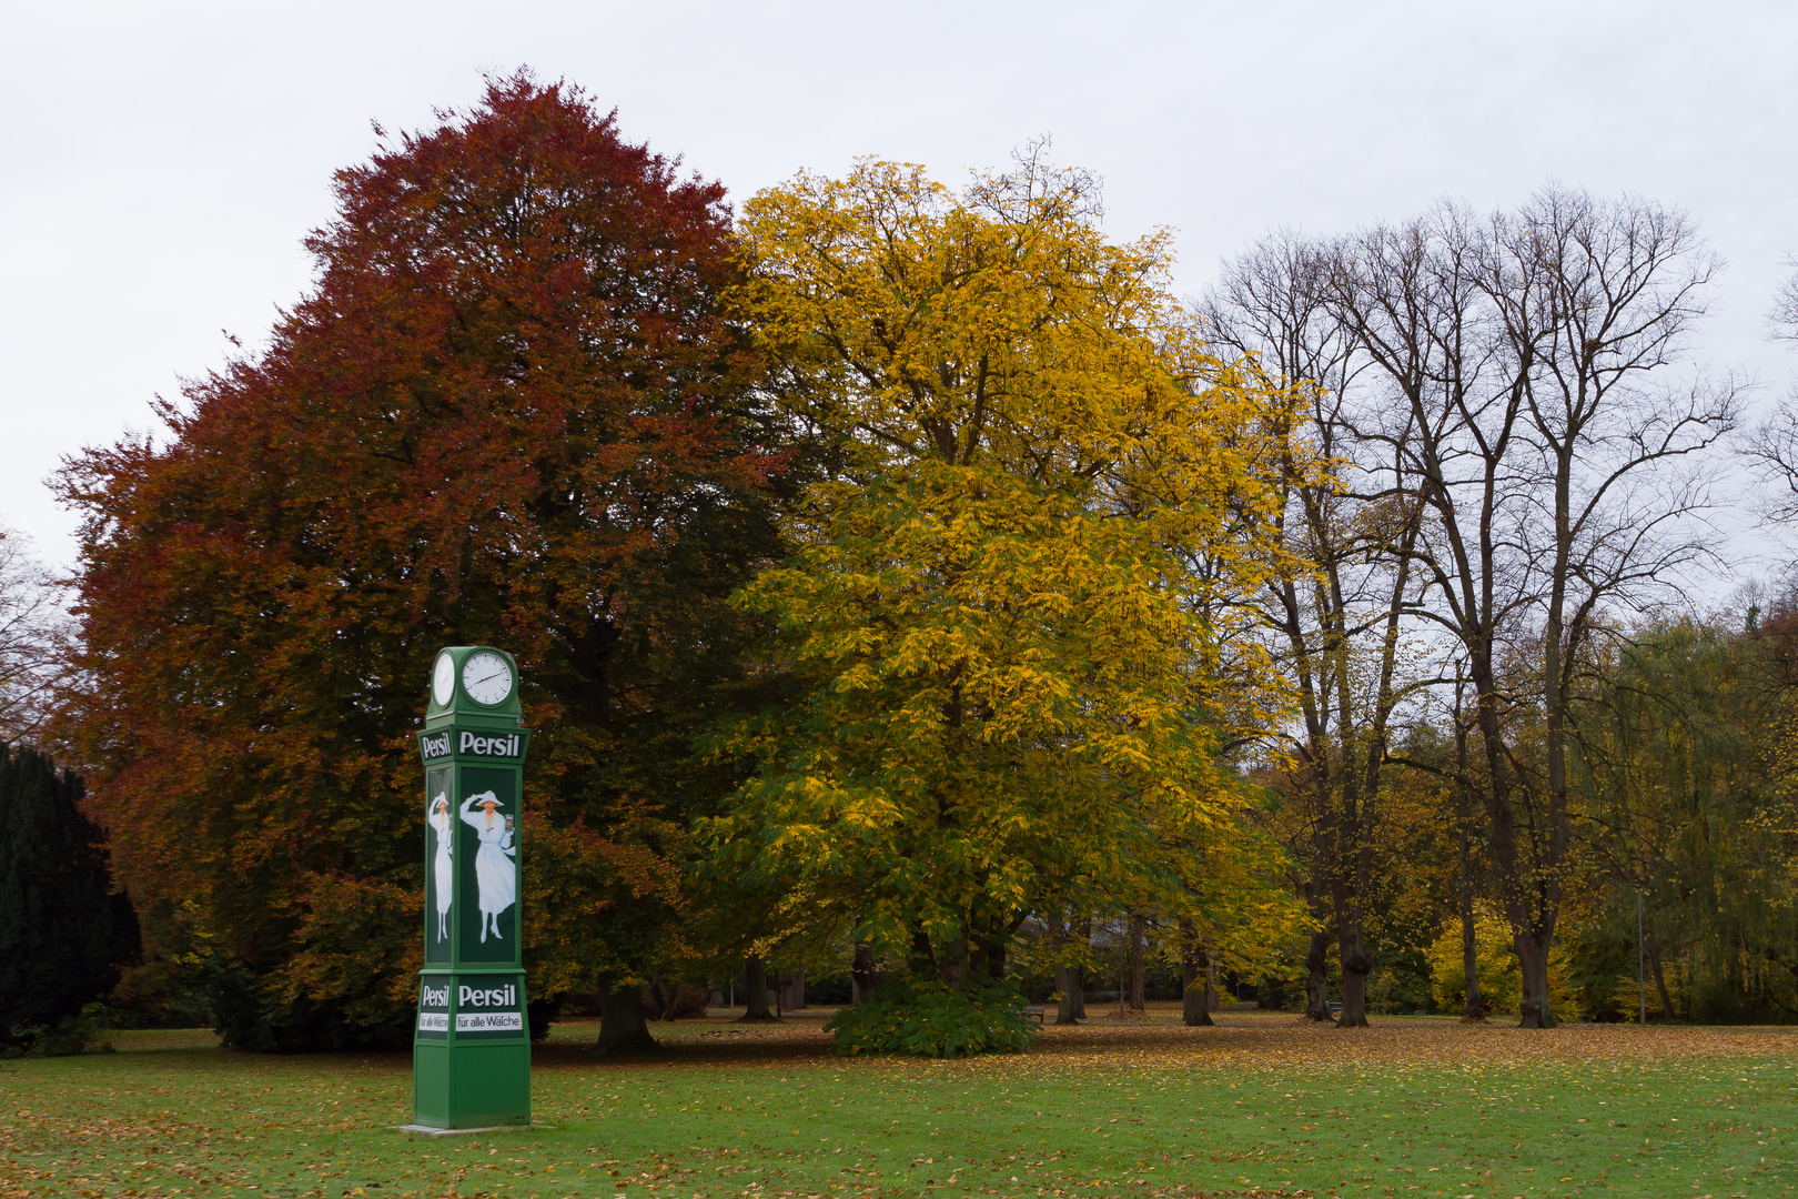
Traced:
[[957, 990], [939, 981], [890, 983], [872, 999], [840, 1010], [825, 1028], [845, 1057], [1016, 1053], [1036, 1041], [1037, 1030], [1021, 1007], [1023, 996], [1009, 987]]

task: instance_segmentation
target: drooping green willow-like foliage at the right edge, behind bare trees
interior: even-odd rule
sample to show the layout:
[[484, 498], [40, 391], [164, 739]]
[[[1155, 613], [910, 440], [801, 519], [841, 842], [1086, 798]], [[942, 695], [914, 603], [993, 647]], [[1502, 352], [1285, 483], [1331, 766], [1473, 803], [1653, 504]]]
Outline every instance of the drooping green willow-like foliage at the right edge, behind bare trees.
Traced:
[[[1778, 609], [1751, 633], [1667, 624], [1602, 662], [1575, 782], [1579, 884], [1598, 926], [1584, 935], [1627, 944], [1611, 987], [1627, 994], [1602, 996], [1606, 1008], [1636, 1007], [1640, 892], [1651, 1017], [1798, 1017], [1794, 631]], [[1672, 1012], [1660, 1012], [1656, 960]]]

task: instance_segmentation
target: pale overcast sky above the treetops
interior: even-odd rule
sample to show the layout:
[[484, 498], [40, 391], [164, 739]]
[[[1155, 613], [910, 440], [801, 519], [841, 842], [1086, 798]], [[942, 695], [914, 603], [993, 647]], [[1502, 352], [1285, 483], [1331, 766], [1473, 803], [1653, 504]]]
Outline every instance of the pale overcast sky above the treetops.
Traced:
[[[255, 345], [370, 120], [529, 65], [735, 198], [856, 155], [958, 182], [1014, 146], [1178, 230], [1183, 291], [1277, 226], [1338, 232], [1548, 178], [1697, 218], [1730, 261], [1705, 352], [1784, 392], [1798, 250], [1793, 4], [23, 4], [0, 34], [0, 521], [74, 561], [45, 478]], [[1751, 539], [1748, 550], [1751, 550]]]

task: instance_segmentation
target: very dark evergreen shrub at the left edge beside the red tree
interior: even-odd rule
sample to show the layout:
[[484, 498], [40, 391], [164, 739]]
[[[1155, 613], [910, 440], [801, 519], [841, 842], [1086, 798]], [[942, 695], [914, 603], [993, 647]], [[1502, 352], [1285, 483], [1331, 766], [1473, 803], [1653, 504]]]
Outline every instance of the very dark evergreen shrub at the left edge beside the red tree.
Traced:
[[113, 893], [81, 777], [0, 742], [0, 1050], [79, 1043], [81, 1012], [137, 955], [137, 922]]

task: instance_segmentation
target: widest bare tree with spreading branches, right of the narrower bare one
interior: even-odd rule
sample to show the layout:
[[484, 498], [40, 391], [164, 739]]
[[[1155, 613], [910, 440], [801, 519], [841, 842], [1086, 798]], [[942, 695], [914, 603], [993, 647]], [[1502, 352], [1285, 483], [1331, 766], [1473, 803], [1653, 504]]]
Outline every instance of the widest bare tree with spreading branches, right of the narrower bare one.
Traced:
[[1357, 433], [1429, 514], [1417, 613], [1473, 688], [1476, 784], [1523, 974], [1546, 1028], [1568, 854], [1573, 679], [1604, 617], [1705, 548], [1703, 453], [1737, 390], [1665, 383], [1717, 261], [1679, 212], [1550, 187], [1474, 219], [1440, 205], [1345, 253], [1334, 304], [1379, 369]]

